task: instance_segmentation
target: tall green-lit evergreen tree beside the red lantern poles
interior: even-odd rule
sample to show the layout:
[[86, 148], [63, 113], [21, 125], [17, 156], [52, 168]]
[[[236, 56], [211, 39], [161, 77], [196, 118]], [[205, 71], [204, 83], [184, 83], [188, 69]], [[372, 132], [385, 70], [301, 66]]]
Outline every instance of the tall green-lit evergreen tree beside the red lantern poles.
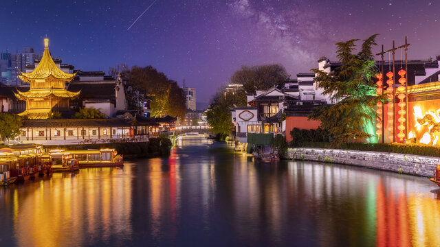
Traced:
[[312, 69], [316, 82], [324, 95], [329, 95], [335, 104], [317, 108], [309, 119], [320, 120], [321, 127], [329, 132], [331, 146], [338, 147], [353, 139], [373, 137], [367, 133], [366, 126], [377, 117], [374, 107], [386, 95], [377, 96], [373, 77], [377, 74], [371, 47], [376, 45], [378, 34], [363, 40], [361, 51], [355, 51], [357, 39], [336, 43], [336, 55], [342, 63], [330, 73]]

